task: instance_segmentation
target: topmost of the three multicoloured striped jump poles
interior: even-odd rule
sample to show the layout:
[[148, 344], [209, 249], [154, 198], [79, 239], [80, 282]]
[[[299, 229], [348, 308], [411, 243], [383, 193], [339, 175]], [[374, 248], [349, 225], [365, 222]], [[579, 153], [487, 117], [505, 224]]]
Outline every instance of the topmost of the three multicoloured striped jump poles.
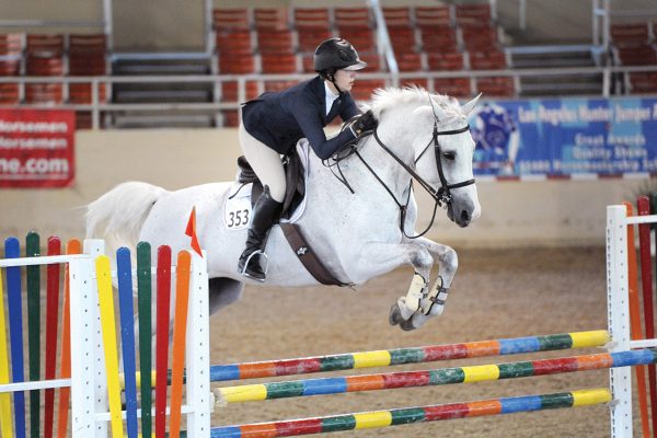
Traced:
[[210, 367], [210, 381], [258, 379], [277, 376], [298, 376], [313, 372], [341, 371], [356, 368], [391, 367], [404, 364], [433, 362], [549, 351], [569, 348], [602, 347], [609, 343], [607, 331], [561, 333], [462, 344], [346, 353], [297, 359], [268, 360]]

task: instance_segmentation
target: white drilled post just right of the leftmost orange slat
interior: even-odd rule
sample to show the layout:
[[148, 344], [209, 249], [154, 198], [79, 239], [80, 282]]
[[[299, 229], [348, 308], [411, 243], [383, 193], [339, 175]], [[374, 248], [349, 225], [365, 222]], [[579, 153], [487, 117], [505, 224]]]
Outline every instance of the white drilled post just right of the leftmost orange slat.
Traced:
[[100, 434], [97, 429], [94, 430], [95, 410], [92, 407], [95, 403], [96, 370], [93, 339], [97, 339], [93, 321], [90, 321], [90, 314], [94, 315], [97, 306], [92, 272], [91, 257], [69, 263], [71, 326], [74, 327], [70, 333], [70, 344], [71, 351], [76, 354], [76, 360], [71, 360], [71, 430], [73, 438], [106, 436], [106, 434]]

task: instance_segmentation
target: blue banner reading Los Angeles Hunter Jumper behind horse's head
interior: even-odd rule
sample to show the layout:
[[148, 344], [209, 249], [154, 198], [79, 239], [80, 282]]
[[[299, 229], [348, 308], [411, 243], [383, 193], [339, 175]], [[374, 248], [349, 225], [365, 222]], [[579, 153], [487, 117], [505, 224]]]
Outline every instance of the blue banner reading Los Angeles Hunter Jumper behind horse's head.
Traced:
[[470, 126], [477, 175], [657, 172], [657, 99], [486, 102]]

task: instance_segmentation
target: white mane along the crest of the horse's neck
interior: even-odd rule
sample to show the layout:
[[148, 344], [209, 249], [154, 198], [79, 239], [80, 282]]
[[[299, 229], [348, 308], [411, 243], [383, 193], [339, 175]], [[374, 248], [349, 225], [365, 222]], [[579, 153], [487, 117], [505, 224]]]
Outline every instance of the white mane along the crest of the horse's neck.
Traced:
[[427, 90], [419, 87], [377, 89], [370, 101], [370, 106], [374, 116], [380, 118], [381, 113], [388, 108], [399, 107], [401, 105], [428, 105], [428, 96], [445, 111], [450, 117], [463, 117], [459, 102], [445, 94], [430, 94]]

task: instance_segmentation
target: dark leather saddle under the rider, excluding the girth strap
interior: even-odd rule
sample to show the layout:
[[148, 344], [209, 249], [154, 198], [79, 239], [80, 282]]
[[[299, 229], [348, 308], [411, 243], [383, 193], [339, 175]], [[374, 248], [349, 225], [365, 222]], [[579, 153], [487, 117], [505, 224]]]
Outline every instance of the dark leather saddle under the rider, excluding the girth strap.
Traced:
[[[263, 193], [263, 184], [253, 171], [253, 168], [251, 168], [246, 157], [240, 155], [238, 158], [238, 183], [253, 184], [251, 188], [251, 206], [253, 206]], [[283, 158], [283, 168], [285, 169], [286, 192], [280, 217], [289, 219], [306, 196], [304, 169], [296, 151]]]

